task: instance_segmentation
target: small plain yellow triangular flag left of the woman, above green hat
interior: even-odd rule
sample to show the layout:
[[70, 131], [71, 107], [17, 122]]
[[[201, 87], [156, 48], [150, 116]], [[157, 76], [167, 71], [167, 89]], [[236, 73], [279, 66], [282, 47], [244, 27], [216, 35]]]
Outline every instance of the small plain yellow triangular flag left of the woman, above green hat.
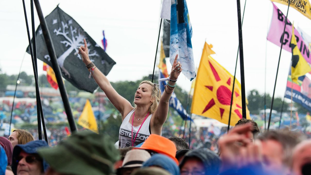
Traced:
[[79, 117], [78, 124], [82, 127], [98, 133], [96, 119], [92, 110], [90, 101], [87, 99], [81, 116]]

